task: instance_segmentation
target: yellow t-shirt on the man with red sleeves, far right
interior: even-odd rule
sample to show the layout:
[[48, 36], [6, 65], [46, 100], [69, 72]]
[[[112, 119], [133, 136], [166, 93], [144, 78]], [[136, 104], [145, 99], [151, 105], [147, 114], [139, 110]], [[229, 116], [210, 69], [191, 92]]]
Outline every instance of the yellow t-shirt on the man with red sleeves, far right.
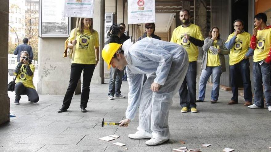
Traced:
[[254, 51], [253, 61], [258, 62], [264, 60], [271, 48], [271, 28], [258, 30], [257, 47]]

